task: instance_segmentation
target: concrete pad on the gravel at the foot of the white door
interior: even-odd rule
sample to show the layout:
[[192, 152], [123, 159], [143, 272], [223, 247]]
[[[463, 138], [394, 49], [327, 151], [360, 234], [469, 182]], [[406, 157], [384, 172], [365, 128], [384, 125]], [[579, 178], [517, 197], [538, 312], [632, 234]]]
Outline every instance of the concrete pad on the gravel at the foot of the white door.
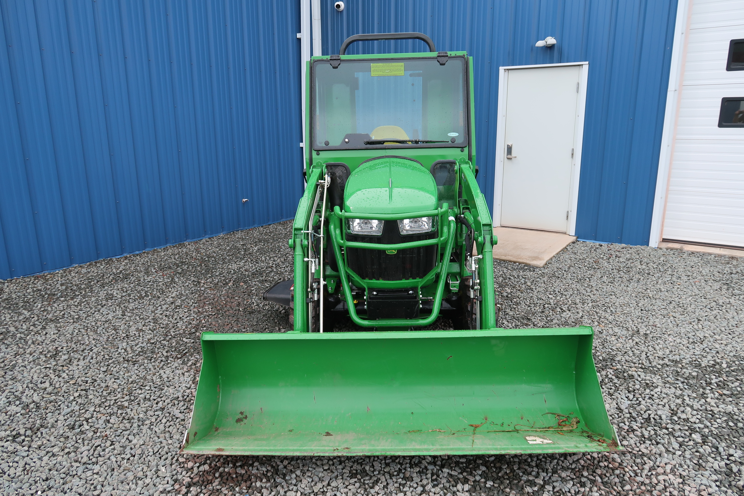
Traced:
[[493, 247], [493, 258], [533, 267], [542, 267], [555, 254], [576, 241], [576, 236], [530, 229], [493, 228], [493, 233], [498, 236], [498, 244]]

